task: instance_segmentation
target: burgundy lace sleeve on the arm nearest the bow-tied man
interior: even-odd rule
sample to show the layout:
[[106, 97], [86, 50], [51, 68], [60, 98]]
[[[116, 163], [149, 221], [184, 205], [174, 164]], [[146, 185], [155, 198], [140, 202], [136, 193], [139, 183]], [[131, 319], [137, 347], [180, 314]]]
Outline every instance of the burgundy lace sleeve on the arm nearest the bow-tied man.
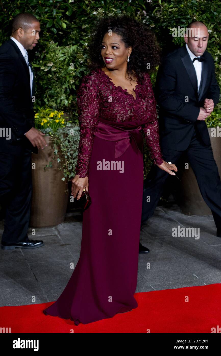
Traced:
[[146, 73], [146, 85], [149, 87], [148, 95], [145, 101], [148, 103], [149, 120], [147, 124], [143, 127], [143, 132], [145, 134], [145, 140], [147, 146], [150, 150], [151, 158], [154, 160], [154, 164], [163, 163], [162, 153], [160, 150], [159, 142], [159, 123], [156, 113], [156, 100], [154, 98], [154, 92], [150, 80], [150, 76]]

